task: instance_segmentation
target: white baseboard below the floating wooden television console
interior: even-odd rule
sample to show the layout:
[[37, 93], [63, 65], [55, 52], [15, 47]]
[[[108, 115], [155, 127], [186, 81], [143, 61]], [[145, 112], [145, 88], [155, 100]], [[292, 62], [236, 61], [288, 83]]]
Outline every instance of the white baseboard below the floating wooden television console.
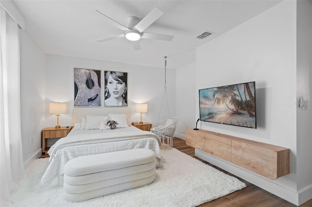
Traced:
[[287, 189], [283, 186], [280, 186], [276, 183], [273, 183], [257, 174], [251, 173], [247, 170], [241, 169], [230, 164], [222, 159], [219, 159], [215, 156], [209, 155], [203, 151], [195, 149], [195, 156], [229, 172], [232, 173], [252, 184], [262, 188], [266, 191], [273, 193], [274, 195], [294, 204], [301, 205], [310, 199], [312, 199], [312, 187], [302, 190], [302, 192], [295, 192], [293, 190]]

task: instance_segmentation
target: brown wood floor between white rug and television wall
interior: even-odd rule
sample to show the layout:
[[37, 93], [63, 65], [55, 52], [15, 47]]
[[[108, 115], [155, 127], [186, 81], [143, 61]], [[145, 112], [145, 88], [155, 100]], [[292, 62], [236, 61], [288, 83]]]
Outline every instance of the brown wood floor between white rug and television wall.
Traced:
[[[215, 167], [219, 171], [234, 176], [231, 173], [195, 157], [195, 148], [188, 146], [183, 139], [174, 138], [174, 148], [206, 163], [207, 165]], [[247, 187], [242, 190], [237, 190], [227, 196], [202, 204], [200, 207], [296, 207], [296, 205], [293, 205], [266, 190], [260, 189], [239, 177], [237, 178], [244, 182]], [[312, 207], [312, 200], [302, 204], [300, 207]]]

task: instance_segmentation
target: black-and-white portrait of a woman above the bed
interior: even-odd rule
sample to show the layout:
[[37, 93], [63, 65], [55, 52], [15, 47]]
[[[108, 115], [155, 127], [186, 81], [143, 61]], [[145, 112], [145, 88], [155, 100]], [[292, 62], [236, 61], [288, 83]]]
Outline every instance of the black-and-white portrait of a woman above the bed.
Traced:
[[104, 71], [105, 100], [104, 106], [127, 106], [127, 78], [126, 72]]

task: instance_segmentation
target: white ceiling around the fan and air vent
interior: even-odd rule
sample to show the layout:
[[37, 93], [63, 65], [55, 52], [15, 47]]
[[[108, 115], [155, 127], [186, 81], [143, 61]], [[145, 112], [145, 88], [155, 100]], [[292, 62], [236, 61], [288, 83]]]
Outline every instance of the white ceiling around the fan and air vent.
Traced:
[[[195, 61], [195, 48], [273, 7], [280, 0], [13, 0], [26, 19], [26, 31], [47, 54], [176, 69]], [[165, 14], [144, 32], [175, 36], [171, 42], [140, 39], [96, 40], [124, 32], [96, 10], [126, 26], [155, 7]], [[213, 35], [199, 40], [205, 31]]]

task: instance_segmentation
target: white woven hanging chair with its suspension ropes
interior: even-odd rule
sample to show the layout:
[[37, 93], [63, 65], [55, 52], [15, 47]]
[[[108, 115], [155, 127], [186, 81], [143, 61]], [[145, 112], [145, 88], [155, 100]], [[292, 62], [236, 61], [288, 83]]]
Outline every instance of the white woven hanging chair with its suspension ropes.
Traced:
[[[170, 110], [169, 110], [169, 104], [168, 104], [168, 95], [167, 95], [167, 86], [166, 86], [166, 66], [167, 66], [167, 57], [165, 56], [165, 90], [162, 97], [161, 107], [158, 115], [157, 124], [151, 128], [151, 132], [158, 135], [159, 138], [161, 138], [161, 142], [164, 144], [165, 140], [167, 139], [167, 145], [173, 147], [173, 137], [176, 132], [176, 122], [178, 121], [178, 118], [172, 117], [165, 119], [163, 121], [159, 121], [161, 113], [164, 114], [164, 111], [167, 106], [168, 115], [170, 117]], [[159, 122], [158, 122], [159, 121]]]

